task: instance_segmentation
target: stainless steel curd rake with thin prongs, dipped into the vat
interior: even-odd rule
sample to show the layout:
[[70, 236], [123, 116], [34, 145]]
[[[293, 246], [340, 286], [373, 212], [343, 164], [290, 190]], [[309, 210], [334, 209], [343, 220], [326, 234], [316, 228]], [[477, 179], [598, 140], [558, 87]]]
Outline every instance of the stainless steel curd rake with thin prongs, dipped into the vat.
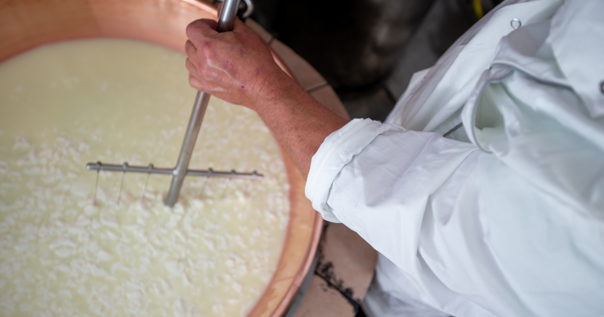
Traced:
[[[240, 0], [225, 0], [223, 2], [222, 10], [220, 11], [220, 16], [218, 18], [218, 25], [216, 30], [219, 32], [226, 32], [233, 30], [233, 25], [235, 23], [235, 17], [237, 16], [237, 9], [239, 8]], [[261, 179], [263, 176], [256, 173], [256, 171], [252, 173], [238, 173], [235, 170], [231, 171], [213, 171], [211, 168], [208, 170], [189, 170], [188, 164], [191, 159], [191, 154], [193, 154], [193, 147], [195, 146], [195, 141], [197, 140], [197, 136], [199, 134], [199, 129], [201, 129], [201, 121], [204, 119], [205, 109], [208, 107], [208, 101], [210, 100], [210, 94], [205, 92], [198, 92], [197, 97], [193, 103], [193, 111], [191, 112], [191, 117], [189, 118], [187, 130], [185, 131], [185, 138], [182, 141], [181, 153], [178, 156], [178, 161], [176, 162], [175, 168], [162, 168], [162, 167], [153, 167], [153, 164], [149, 164], [149, 166], [130, 166], [127, 162], [124, 162], [121, 165], [117, 164], [103, 164], [100, 161], [96, 163], [88, 163], [86, 164], [87, 170], [95, 170], [97, 173], [101, 170], [106, 171], [121, 171], [122, 173], [135, 172], [135, 173], [147, 173], [150, 174], [167, 174], [172, 175], [172, 182], [170, 183], [170, 190], [168, 191], [168, 195], [165, 198], [165, 204], [173, 207], [178, 200], [178, 194], [181, 191], [182, 181], [184, 181], [185, 176], [206, 176], [210, 177], [222, 177], [222, 178], [246, 178], [246, 179]], [[149, 179], [147, 179], [148, 181]], [[122, 184], [123, 184], [123, 176], [122, 176]], [[118, 194], [118, 202], [120, 200], [121, 195], [121, 185], [120, 184], [120, 194]], [[96, 191], [98, 186], [98, 175], [97, 175], [97, 184], [95, 184], [94, 188], [94, 196], [96, 199]], [[146, 187], [146, 186], [145, 186]], [[144, 194], [144, 193], [143, 193]]]

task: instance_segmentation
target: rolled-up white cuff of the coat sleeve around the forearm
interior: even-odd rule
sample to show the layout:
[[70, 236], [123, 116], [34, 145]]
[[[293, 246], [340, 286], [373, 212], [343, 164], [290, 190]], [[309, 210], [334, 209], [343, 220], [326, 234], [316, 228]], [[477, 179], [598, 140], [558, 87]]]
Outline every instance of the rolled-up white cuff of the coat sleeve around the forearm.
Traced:
[[306, 197], [312, 202], [312, 207], [323, 215], [323, 219], [340, 222], [327, 205], [327, 197], [333, 181], [344, 165], [352, 161], [353, 156], [361, 153], [376, 136], [390, 130], [405, 131], [403, 127], [396, 124], [354, 119], [325, 138], [312, 156], [304, 190]]

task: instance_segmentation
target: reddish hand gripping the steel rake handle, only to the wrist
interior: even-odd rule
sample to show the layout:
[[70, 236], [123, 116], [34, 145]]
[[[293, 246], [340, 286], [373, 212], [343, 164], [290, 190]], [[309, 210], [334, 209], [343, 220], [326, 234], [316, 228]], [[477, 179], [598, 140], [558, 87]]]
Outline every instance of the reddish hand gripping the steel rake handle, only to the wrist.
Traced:
[[[290, 80], [260, 37], [239, 18], [233, 31], [218, 33], [216, 21], [199, 19], [187, 26], [185, 43], [189, 83], [234, 104], [257, 110], [261, 100], [271, 98], [274, 80]], [[288, 78], [285, 78], [288, 77]]]

